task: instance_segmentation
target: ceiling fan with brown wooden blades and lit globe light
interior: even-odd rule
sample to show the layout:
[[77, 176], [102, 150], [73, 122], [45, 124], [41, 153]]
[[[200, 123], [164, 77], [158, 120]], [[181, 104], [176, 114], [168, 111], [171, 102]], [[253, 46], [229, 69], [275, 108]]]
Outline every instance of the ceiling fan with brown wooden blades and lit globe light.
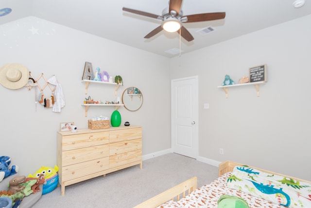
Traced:
[[131, 12], [134, 14], [160, 19], [162, 24], [155, 28], [153, 31], [148, 33], [144, 38], [151, 38], [163, 29], [168, 32], [177, 32], [188, 41], [193, 40], [194, 38], [190, 32], [182, 25], [183, 22], [199, 22], [199, 21], [210, 21], [216, 19], [224, 19], [225, 12], [215, 12], [215, 13], [203, 13], [183, 16], [183, 11], [181, 10], [182, 0], [170, 0], [169, 8], [164, 9], [162, 16], [151, 14], [148, 12], [142, 12], [135, 9], [129, 9], [123, 7], [122, 10], [126, 12]]

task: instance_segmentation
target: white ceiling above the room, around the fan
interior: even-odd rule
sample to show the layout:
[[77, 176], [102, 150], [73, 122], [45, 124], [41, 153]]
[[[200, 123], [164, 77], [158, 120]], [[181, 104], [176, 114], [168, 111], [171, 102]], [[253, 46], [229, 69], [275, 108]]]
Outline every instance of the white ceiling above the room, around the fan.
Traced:
[[[12, 12], [0, 17], [0, 25], [35, 16], [96, 36], [133, 46], [166, 57], [175, 57], [165, 51], [179, 52], [179, 34], [164, 30], [150, 39], [144, 36], [161, 24], [161, 20], [123, 12], [122, 7], [162, 15], [168, 0], [0, 0], [0, 9]], [[225, 19], [184, 23], [194, 40], [181, 39], [184, 53], [242, 36], [291, 19], [311, 14], [311, 2], [294, 8], [294, 0], [184, 0], [184, 16], [225, 12]], [[212, 26], [216, 30], [206, 35], [197, 33]], [[307, 25], [306, 25], [307, 26]], [[310, 27], [310, 25], [308, 25]], [[293, 29], [293, 28], [289, 28]]]

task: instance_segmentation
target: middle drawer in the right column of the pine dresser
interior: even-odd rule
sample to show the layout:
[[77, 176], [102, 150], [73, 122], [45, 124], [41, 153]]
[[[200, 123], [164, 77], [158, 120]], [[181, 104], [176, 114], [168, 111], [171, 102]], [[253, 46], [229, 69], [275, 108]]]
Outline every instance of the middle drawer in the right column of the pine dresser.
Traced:
[[127, 151], [141, 150], [141, 139], [109, 144], [109, 155], [121, 154]]

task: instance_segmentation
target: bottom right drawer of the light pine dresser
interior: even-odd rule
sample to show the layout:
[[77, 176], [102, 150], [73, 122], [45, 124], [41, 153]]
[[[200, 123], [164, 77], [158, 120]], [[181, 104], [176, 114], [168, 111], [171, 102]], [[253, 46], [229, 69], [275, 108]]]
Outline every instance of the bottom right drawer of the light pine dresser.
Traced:
[[109, 156], [109, 168], [116, 168], [128, 163], [141, 160], [141, 150], [129, 151], [113, 156]]

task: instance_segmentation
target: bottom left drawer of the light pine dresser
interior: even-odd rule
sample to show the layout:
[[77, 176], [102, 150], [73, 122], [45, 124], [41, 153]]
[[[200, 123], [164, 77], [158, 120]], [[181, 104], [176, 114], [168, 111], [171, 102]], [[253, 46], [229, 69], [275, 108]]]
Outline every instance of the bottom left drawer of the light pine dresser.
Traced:
[[78, 163], [66, 167], [62, 167], [62, 181], [69, 181], [79, 177], [86, 176], [95, 172], [100, 172], [109, 169], [109, 157], [104, 157], [96, 160], [90, 160], [83, 163]]

